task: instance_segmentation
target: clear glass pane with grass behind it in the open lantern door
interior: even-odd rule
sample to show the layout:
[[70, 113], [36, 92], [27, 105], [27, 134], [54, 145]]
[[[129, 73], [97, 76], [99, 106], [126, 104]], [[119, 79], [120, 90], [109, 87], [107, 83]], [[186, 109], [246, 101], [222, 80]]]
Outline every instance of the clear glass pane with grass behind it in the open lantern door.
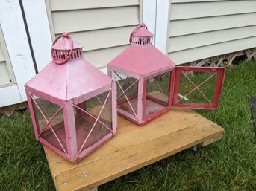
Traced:
[[217, 77], [216, 72], [211, 71], [181, 71], [178, 102], [212, 103]]

